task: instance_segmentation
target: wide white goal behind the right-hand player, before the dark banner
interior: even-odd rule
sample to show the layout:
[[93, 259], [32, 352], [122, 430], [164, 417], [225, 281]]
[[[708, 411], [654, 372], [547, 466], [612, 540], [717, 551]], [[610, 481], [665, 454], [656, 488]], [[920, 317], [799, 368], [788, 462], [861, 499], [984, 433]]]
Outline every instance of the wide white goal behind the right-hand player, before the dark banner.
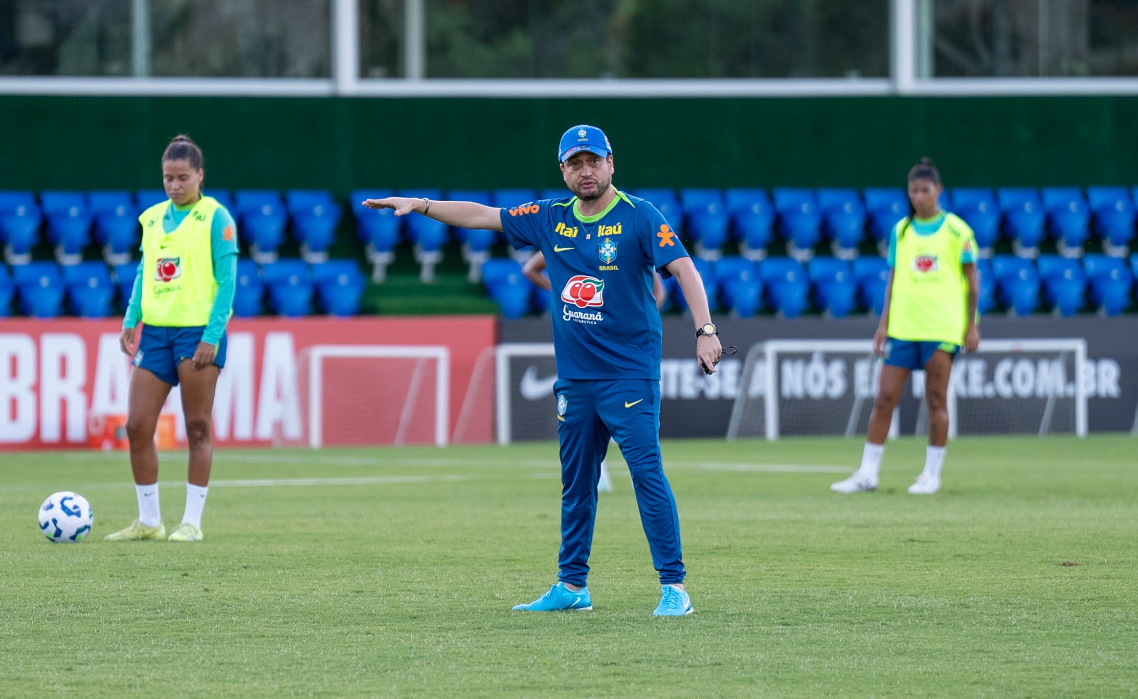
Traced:
[[[1082, 339], [984, 340], [953, 365], [949, 436], [1087, 433], [1087, 359]], [[750, 349], [727, 439], [830, 434], [860, 436], [868, 426], [880, 364], [869, 340], [770, 340]], [[924, 372], [914, 372], [900, 410], [927, 430]], [[917, 402], [920, 401], [920, 402]], [[912, 414], [910, 414], [912, 415]]]

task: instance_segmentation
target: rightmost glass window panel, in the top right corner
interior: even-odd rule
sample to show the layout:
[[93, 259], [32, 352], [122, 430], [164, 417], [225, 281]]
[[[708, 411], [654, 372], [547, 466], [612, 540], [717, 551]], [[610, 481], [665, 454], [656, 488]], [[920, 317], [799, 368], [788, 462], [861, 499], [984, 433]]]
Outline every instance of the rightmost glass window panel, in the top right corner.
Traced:
[[924, 77], [1138, 75], [1132, 0], [923, 0], [921, 7]]

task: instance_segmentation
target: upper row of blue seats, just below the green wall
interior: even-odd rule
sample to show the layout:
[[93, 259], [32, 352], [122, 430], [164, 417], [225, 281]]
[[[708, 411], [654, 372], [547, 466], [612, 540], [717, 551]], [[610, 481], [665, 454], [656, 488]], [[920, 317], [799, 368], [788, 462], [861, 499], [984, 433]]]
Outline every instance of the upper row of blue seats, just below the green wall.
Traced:
[[[291, 220], [294, 239], [305, 255], [320, 255], [335, 241], [341, 209], [330, 192], [290, 190], [282, 199], [274, 190], [238, 190], [232, 198], [224, 190], [208, 193], [225, 205], [238, 218], [242, 236], [259, 252], [273, 253], [283, 242]], [[559, 198], [568, 192], [554, 190], [452, 190], [448, 199], [512, 207], [538, 198]], [[678, 195], [670, 189], [642, 189], [633, 192], [653, 202], [673, 227], [686, 232], [696, 243], [696, 252], [718, 256], [729, 238], [740, 241], [747, 257], [761, 257], [781, 234], [794, 250], [810, 250], [822, 240], [835, 250], [855, 250], [866, 234], [884, 240], [892, 225], [908, 211], [902, 189], [684, 189]], [[417, 250], [438, 251], [450, 240], [450, 228], [430, 218], [398, 218], [390, 210], [362, 206], [368, 198], [427, 197], [442, 199], [439, 190], [355, 190], [351, 206], [360, 239], [376, 253], [390, 252], [403, 239]], [[1121, 251], [1135, 236], [1138, 188], [956, 188], [942, 194], [941, 203], [958, 214], [975, 231], [976, 243], [990, 249], [1006, 233], [1017, 251], [1033, 256], [1033, 250], [1049, 233], [1061, 248], [1078, 251], [1097, 233], [1108, 250]], [[109, 253], [129, 253], [138, 247], [138, 213], [165, 200], [162, 190], [42, 192], [0, 192], [0, 243], [15, 253], [27, 252], [35, 244], [41, 223], [47, 218], [48, 240], [67, 253], [77, 253], [94, 240]], [[485, 252], [498, 242], [493, 231], [455, 228], [454, 238], [464, 249]], [[478, 258], [479, 260], [484, 258]]]

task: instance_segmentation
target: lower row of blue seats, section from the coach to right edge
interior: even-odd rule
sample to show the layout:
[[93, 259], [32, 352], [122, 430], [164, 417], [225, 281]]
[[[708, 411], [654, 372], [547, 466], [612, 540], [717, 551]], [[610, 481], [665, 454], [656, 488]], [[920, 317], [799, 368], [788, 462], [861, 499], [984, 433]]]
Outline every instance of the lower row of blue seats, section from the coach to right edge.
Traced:
[[[729, 310], [741, 317], [767, 308], [785, 317], [798, 317], [811, 305], [834, 317], [844, 317], [858, 308], [882, 313], [889, 265], [884, 258], [863, 256], [847, 261], [815, 257], [805, 265], [791, 257], [770, 257], [754, 263], [739, 256], [715, 261], [693, 258], [703, 278], [712, 310]], [[981, 313], [1003, 306], [1017, 315], [1034, 313], [1042, 302], [1059, 315], [1070, 316], [1091, 308], [1115, 316], [1130, 307], [1138, 255], [1127, 260], [1103, 253], [1089, 253], [1081, 260], [1044, 255], [1038, 263], [1011, 255], [998, 255], [978, 263]], [[483, 266], [487, 293], [509, 318], [531, 310], [550, 308], [550, 293], [530, 284], [521, 266], [511, 259], [495, 258]], [[665, 282], [666, 308], [687, 308], [678, 283]]]

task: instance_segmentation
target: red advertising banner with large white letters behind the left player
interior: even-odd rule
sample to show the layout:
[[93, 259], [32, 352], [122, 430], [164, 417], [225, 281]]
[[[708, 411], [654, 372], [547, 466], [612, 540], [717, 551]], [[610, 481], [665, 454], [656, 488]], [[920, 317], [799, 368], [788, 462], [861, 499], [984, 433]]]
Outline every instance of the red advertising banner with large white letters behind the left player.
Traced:
[[[0, 451], [82, 448], [107, 425], [121, 431], [132, 368], [118, 334], [117, 321], [0, 322]], [[234, 319], [228, 334], [218, 446], [492, 439], [492, 316]], [[180, 401], [175, 388], [164, 408], [179, 443]]]

